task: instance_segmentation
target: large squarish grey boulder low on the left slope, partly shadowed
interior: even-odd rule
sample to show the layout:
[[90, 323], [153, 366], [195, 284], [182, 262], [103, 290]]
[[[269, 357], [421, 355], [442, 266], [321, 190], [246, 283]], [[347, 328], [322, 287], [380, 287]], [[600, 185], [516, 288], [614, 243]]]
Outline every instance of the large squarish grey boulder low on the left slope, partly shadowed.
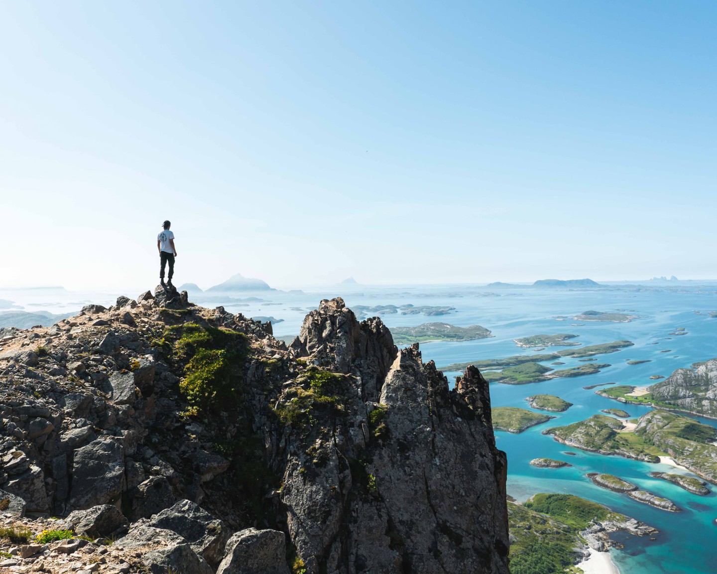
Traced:
[[122, 447], [110, 439], [98, 438], [75, 451], [70, 506], [86, 509], [116, 502], [124, 479]]

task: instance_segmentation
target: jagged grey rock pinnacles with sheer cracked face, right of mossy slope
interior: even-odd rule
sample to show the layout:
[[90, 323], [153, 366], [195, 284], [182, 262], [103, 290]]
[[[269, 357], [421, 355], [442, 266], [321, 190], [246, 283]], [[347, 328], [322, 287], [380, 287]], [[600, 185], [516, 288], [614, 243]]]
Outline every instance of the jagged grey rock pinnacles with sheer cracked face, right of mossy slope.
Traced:
[[288, 436], [281, 501], [308, 571], [508, 572], [506, 460], [478, 370], [449, 390], [417, 345], [397, 351], [341, 299], [322, 301], [298, 342], [348, 375], [342, 414]]

